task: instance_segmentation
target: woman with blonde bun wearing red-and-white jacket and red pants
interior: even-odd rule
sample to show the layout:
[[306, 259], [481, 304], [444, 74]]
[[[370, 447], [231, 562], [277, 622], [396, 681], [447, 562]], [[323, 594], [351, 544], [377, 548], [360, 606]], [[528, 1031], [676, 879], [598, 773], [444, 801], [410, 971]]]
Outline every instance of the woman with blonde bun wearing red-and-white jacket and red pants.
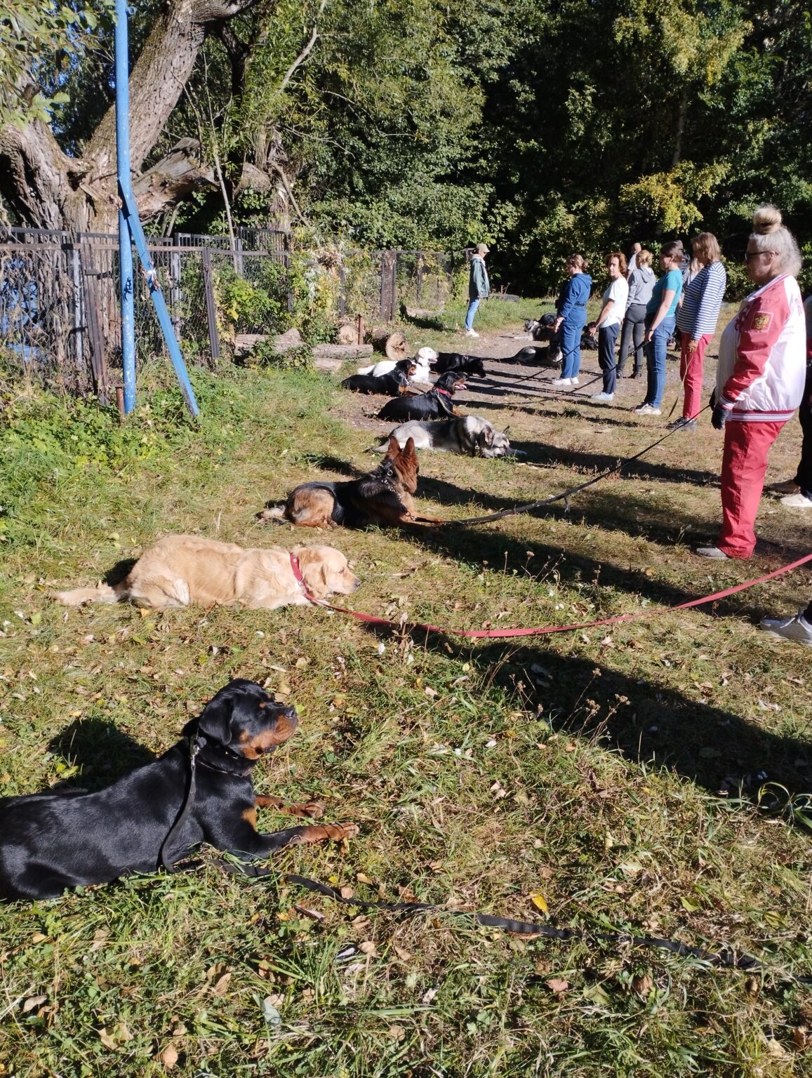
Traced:
[[719, 342], [712, 423], [725, 431], [721, 530], [703, 557], [751, 557], [767, 454], [798, 407], [807, 373], [803, 304], [796, 274], [801, 258], [774, 206], [753, 216], [744, 255], [757, 286]]

